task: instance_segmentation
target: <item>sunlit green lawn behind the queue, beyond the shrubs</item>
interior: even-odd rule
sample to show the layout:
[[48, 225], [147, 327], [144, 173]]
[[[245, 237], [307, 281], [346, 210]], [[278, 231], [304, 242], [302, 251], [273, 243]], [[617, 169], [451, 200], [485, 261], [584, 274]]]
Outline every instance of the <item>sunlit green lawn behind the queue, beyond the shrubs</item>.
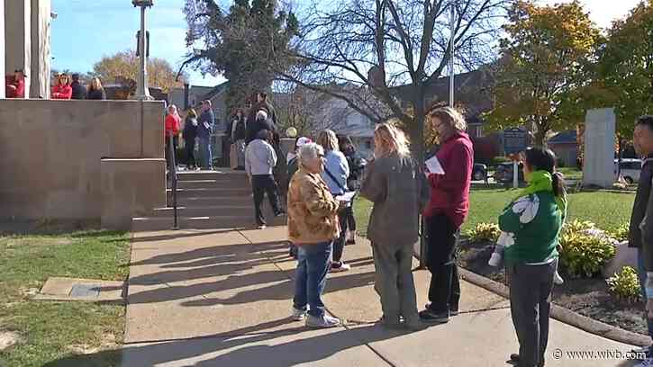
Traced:
[[[463, 230], [476, 227], [482, 222], [496, 222], [497, 217], [518, 191], [475, 188], [470, 195], [470, 210]], [[630, 220], [634, 193], [578, 192], [569, 195], [569, 219], [591, 220], [599, 228], [615, 229]], [[367, 234], [367, 221], [371, 203], [358, 200], [355, 203], [358, 233]]]

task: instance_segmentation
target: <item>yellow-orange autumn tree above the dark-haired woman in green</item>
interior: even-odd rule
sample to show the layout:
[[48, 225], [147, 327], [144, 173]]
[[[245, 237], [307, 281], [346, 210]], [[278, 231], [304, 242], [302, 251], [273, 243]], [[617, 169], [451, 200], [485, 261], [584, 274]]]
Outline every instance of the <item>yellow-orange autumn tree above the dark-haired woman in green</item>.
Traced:
[[519, 1], [503, 28], [490, 128], [525, 126], [543, 146], [555, 130], [576, 127], [585, 114], [583, 90], [591, 82], [600, 31], [576, 0], [540, 6]]

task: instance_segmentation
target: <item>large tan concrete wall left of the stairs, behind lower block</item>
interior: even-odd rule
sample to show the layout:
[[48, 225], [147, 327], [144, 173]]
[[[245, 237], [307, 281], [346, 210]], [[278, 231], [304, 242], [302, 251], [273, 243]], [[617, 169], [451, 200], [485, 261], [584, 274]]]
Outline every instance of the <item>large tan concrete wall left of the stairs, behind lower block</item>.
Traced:
[[[100, 219], [102, 158], [163, 158], [163, 103], [144, 103], [142, 124], [140, 112], [136, 101], [0, 100], [0, 220]], [[122, 177], [165, 192], [162, 173]]]

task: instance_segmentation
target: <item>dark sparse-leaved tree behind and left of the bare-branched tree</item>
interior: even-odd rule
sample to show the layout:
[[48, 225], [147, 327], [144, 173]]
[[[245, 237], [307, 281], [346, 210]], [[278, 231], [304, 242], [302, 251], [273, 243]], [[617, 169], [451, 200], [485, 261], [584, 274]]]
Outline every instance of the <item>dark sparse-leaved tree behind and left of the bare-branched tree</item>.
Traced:
[[235, 0], [227, 13], [214, 0], [186, 0], [184, 13], [186, 44], [194, 51], [182, 68], [222, 73], [229, 80], [230, 108], [271, 87], [270, 65], [281, 62], [278, 55], [298, 31], [295, 14], [279, 10], [277, 0]]

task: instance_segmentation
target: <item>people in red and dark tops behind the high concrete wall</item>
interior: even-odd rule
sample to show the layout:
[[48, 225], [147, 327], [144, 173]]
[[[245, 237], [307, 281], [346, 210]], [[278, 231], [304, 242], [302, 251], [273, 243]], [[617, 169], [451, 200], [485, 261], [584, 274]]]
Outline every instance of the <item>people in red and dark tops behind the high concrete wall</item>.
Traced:
[[[25, 78], [23, 69], [16, 69], [14, 75], [5, 76], [5, 94], [7, 98], [25, 98]], [[83, 85], [79, 74], [72, 79], [66, 74], [55, 76], [50, 90], [50, 98], [58, 100], [105, 100], [106, 93], [102, 82], [97, 77], [91, 78], [88, 85]]]

